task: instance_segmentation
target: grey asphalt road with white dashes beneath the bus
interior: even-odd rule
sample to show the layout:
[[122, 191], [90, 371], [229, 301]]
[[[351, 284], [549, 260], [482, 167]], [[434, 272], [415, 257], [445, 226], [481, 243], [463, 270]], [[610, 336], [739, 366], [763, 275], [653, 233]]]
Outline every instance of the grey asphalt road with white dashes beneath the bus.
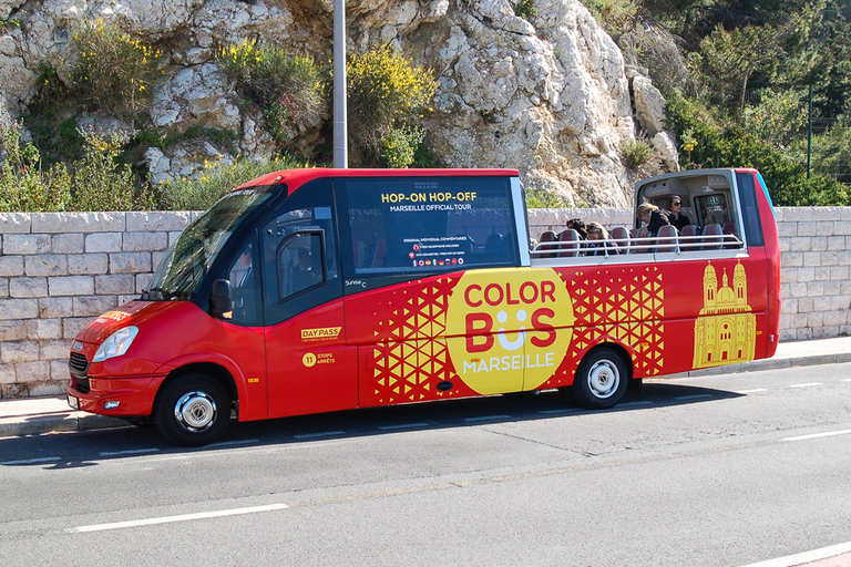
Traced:
[[741, 566], [851, 540], [851, 364], [0, 440], [0, 565]]

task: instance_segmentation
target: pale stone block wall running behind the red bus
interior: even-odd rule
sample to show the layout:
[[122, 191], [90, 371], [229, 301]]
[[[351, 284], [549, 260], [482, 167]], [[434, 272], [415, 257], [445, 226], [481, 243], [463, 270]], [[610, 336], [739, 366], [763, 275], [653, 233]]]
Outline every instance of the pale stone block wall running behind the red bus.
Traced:
[[[0, 398], [68, 385], [71, 340], [141, 292], [194, 213], [0, 214]], [[533, 236], [567, 218], [630, 224], [629, 209], [530, 210]], [[778, 208], [781, 340], [851, 329], [851, 207]]]

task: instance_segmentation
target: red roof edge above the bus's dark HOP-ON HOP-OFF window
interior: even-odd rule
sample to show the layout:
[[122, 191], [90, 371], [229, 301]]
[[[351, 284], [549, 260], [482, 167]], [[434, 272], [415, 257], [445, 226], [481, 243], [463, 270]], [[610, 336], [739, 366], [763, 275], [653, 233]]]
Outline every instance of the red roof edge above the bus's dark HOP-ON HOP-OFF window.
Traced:
[[[265, 185], [286, 184], [289, 193], [312, 179], [320, 177], [437, 177], [437, 176], [511, 176], [517, 177], [517, 169], [342, 169], [330, 167], [306, 167], [283, 169], [252, 179], [236, 189], [247, 189]], [[235, 190], [236, 190], [235, 189]]]

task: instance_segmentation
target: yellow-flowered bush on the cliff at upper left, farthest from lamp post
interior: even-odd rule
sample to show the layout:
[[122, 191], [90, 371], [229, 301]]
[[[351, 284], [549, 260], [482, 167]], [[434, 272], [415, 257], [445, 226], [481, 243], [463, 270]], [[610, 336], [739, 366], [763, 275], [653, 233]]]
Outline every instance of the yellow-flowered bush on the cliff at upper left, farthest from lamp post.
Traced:
[[74, 32], [78, 53], [71, 89], [92, 110], [135, 117], [151, 106], [163, 52], [103, 20], [83, 20]]

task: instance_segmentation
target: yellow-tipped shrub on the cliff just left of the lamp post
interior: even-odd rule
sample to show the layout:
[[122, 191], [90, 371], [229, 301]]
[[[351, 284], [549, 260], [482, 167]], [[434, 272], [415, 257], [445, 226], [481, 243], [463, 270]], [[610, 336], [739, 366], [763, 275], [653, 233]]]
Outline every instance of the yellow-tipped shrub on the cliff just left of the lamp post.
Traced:
[[225, 75], [259, 105], [269, 133], [289, 142], [303, 122], [314, 122], [321, 112], [322, 70], [312, 58], [291, 54], [275, 45], [245, 40], [218, 52]]

